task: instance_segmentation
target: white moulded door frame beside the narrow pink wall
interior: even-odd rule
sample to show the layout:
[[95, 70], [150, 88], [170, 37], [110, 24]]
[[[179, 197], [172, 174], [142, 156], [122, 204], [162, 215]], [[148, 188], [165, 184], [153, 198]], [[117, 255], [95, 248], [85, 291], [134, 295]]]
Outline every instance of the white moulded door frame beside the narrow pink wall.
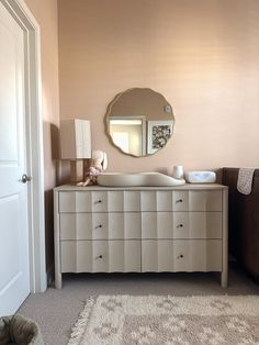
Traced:
[[[29, 182], [29, 255], [31, 292], [47, 288], [44, 214], [44, 155], [40, 25], [24, 0], [0, 0], [24, 31], [25, 138]], [[32, 145], [33, 143], [33, 145]]]

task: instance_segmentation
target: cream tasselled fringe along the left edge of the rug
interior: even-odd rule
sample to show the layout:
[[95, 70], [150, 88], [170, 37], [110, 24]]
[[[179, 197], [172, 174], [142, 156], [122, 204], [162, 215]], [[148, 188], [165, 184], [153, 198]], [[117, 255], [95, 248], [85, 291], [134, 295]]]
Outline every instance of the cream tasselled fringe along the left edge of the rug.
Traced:
[[95, 302], [95, 298], [89, 297], [86, 302], [83, 311], [79, 314], [79, 318], [71, 329], [70, 340], [67, 345], [79, 345], [86, 326], [90, 320], [92, 307]]

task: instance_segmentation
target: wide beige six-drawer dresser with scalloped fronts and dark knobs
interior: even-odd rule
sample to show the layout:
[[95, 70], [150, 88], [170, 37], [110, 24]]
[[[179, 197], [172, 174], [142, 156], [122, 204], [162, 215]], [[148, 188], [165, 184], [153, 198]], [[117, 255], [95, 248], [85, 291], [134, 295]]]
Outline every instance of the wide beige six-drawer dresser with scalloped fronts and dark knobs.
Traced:
[[218, 271], [227, 286], [227, 187], [61, 186], [55, 285], [63, 272]]

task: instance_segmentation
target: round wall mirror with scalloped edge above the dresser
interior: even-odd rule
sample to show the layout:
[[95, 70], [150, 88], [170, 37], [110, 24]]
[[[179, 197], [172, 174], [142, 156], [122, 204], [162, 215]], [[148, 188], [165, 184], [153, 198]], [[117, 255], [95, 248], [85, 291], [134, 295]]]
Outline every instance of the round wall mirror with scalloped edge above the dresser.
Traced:
[[174, 118], [165, 97], [151, 89], [133, 88], [109, 104], [106, 133], [124, 154], [147, 156], [162, 148], [172, 135]]

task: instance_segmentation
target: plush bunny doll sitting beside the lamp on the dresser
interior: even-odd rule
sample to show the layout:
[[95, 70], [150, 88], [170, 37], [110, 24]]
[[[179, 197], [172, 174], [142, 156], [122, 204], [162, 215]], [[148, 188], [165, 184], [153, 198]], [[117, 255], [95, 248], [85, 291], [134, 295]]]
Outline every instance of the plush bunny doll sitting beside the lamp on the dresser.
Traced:
[[95, 185], [98, 175], [104, 171], [106, 167], [106, 153], [101, 149], [93, 151], [90, 167], [87, 169], [85, 175], [85, 181], [79, 182], [78, 186]]

